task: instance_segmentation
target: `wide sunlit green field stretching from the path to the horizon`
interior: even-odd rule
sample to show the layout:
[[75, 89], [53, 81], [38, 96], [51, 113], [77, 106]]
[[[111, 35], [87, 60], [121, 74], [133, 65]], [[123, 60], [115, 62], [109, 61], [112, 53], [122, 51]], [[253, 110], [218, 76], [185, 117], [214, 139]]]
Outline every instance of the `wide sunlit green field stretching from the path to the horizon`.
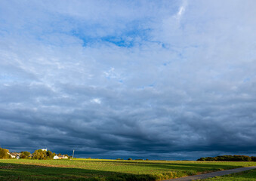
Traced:
[[248, 167], [256, 162], [0, 160], [0, 180], [163, 180]]

